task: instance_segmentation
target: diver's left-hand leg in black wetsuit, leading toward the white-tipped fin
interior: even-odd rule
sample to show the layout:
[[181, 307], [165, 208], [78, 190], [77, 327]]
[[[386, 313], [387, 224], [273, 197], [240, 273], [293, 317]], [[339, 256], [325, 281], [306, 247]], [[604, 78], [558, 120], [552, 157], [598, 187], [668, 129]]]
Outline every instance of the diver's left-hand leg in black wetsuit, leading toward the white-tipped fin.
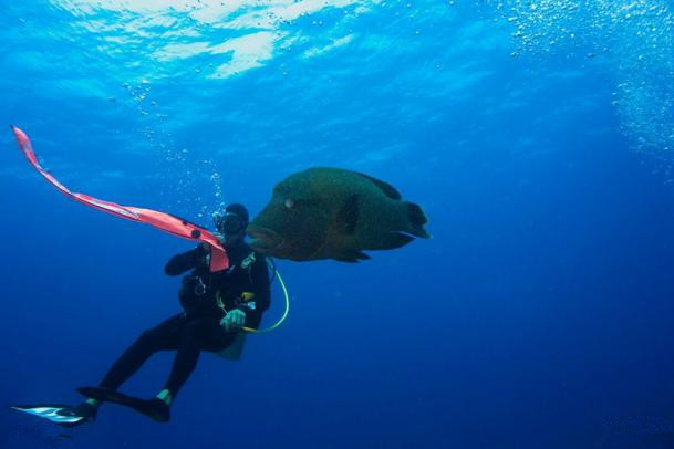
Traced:
[[183, 313], [145, 331], [110, 368], [101, 387], [117, 389], [156, 352], [177, 349], [187, 319]]

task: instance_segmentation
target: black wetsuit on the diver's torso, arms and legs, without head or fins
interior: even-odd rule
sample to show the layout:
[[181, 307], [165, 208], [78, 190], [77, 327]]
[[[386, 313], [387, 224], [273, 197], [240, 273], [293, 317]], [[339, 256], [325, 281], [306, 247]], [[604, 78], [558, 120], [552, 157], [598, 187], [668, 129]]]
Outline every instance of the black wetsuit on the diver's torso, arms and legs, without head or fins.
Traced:
[[[220, 326], [225, 316], [220, 305], [227, 311], [242, 310], [246, 326], [258, 327], [262, 312], [269, 307], [269, 272], [265, 255], [253, 252], [246, 243], [228, 248], [227, 254], [230, 268], [216, 273], [210, 273], [207, 251], [201, 246], [168, 261], [165, 268], [168, 275], [191, 270], [183, 278], [178, 294], [185, 312], [145, 331], [115, 362], [101, 383], [102, 387], [117, 389], [154, 353], [177, 351], [164, 387], [175, 397], [196, 367], [201, 351], [222, 351], [236, 338], [236, 333]], [[243, 292], [255, 296], [243, 302]]]

